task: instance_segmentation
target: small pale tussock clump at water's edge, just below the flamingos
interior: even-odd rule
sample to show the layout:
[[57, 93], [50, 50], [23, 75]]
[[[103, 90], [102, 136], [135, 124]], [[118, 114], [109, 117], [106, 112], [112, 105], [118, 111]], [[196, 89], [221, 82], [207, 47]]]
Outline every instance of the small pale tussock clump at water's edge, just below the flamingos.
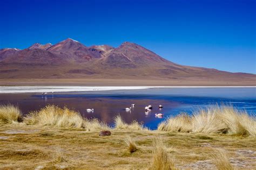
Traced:
[[131, 124], [126, 124], [120, 115], [114, 118], [114, 125], [117, 130], [143, 130], [143, 125], [133, 120]]

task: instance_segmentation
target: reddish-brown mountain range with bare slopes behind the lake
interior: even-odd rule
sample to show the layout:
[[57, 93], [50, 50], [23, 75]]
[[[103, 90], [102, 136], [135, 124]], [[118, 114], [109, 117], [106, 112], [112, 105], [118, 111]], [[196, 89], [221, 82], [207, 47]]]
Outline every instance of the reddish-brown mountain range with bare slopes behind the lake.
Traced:
[[[256, 83], [256, 75], [172, 63], [135, 43], [85, 46], [71, 38], [57, 44], [0, 50], [2, 79], [161, 79]], [[228, 63], [227, 63], [228, 67]]]

